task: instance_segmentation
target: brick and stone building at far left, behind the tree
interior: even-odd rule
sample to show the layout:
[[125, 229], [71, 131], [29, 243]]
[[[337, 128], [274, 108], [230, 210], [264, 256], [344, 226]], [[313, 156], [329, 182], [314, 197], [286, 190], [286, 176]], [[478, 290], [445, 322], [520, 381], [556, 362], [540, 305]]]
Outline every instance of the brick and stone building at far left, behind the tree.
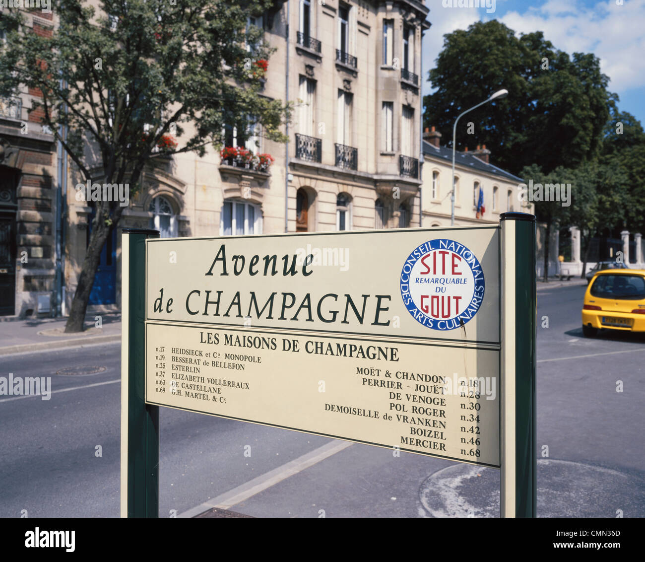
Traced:
[[[25, 27], [37, 35], [51, 36], [55, 24], [53, 10], [25, 10]], [[0, 316], [50, 314], [61, 279], [61, 170], [54, 135], [39, 123], [41, 110], [28, 113], [41, 95], [25, 88], [0, 98]]]

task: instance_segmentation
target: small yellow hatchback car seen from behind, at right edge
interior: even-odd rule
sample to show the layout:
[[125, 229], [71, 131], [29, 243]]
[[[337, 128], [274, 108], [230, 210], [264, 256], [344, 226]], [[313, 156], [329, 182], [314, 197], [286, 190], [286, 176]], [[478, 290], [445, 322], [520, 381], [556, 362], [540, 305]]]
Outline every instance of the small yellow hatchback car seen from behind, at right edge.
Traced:
[[645, 332], [645, 269], [599, 271], [587, 287], [582, 306], [582, 333], [600, 328]]

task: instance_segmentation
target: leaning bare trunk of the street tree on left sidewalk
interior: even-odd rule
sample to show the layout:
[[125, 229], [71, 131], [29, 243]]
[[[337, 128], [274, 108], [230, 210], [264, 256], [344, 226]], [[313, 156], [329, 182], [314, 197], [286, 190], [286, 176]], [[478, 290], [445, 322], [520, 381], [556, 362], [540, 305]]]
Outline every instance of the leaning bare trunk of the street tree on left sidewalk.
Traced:
[[[115, 228], [116, 225], [114, 225]], [[96, 216], [92, 221], [92, 234], [90, 234], [90, 243], [85, 252], [85, 259], [83, 260], [83, 268], [79, 275], [78, 285], [72, 300], [72, 307], [70, 308], [70, 316], [65, 325], [65, 333], [83, 332], [85, 313], [87, 311], [87, 303], [90, 300], [90, 292], [92, 292], [92, 285], [94, 285], [94, 276], [99, 266], [99, 259], [101, 258], [101, 251], [105, 245], [105, 241], [110, 234], [110, 226], [105, 224], [105, 217], [103, 216], [103, 205], [97, 206]]]

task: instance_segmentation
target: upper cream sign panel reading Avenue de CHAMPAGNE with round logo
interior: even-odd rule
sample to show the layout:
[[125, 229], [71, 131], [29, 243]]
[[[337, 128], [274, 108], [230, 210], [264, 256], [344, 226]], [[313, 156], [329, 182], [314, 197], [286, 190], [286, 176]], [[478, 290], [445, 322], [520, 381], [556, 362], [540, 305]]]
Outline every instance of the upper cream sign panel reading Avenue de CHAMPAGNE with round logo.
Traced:
[[497, 226], [146, 245], [148, 321], [499, 344]]

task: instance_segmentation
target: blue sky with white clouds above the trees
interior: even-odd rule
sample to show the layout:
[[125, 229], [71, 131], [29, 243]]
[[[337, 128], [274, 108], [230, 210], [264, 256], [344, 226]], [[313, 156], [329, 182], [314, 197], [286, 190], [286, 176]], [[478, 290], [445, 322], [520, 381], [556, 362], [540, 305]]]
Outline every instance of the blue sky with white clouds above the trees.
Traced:
[[[556, 48], [593, 52], [619, 109], [645, 126], [645, 0], [480, 0], [487, 8], [444, 7], [459, 0], [426, 0], [432, 23], [423, 39], [423, 94], [430, 93], [428, 70], [443, 45], [443, 35], [475, 21], [499, 19], [516, 33], [541, 30]], [[469, 4], [469, 0], [461, 0]], [[493, 3], [494, 2], [494, 3]]]

